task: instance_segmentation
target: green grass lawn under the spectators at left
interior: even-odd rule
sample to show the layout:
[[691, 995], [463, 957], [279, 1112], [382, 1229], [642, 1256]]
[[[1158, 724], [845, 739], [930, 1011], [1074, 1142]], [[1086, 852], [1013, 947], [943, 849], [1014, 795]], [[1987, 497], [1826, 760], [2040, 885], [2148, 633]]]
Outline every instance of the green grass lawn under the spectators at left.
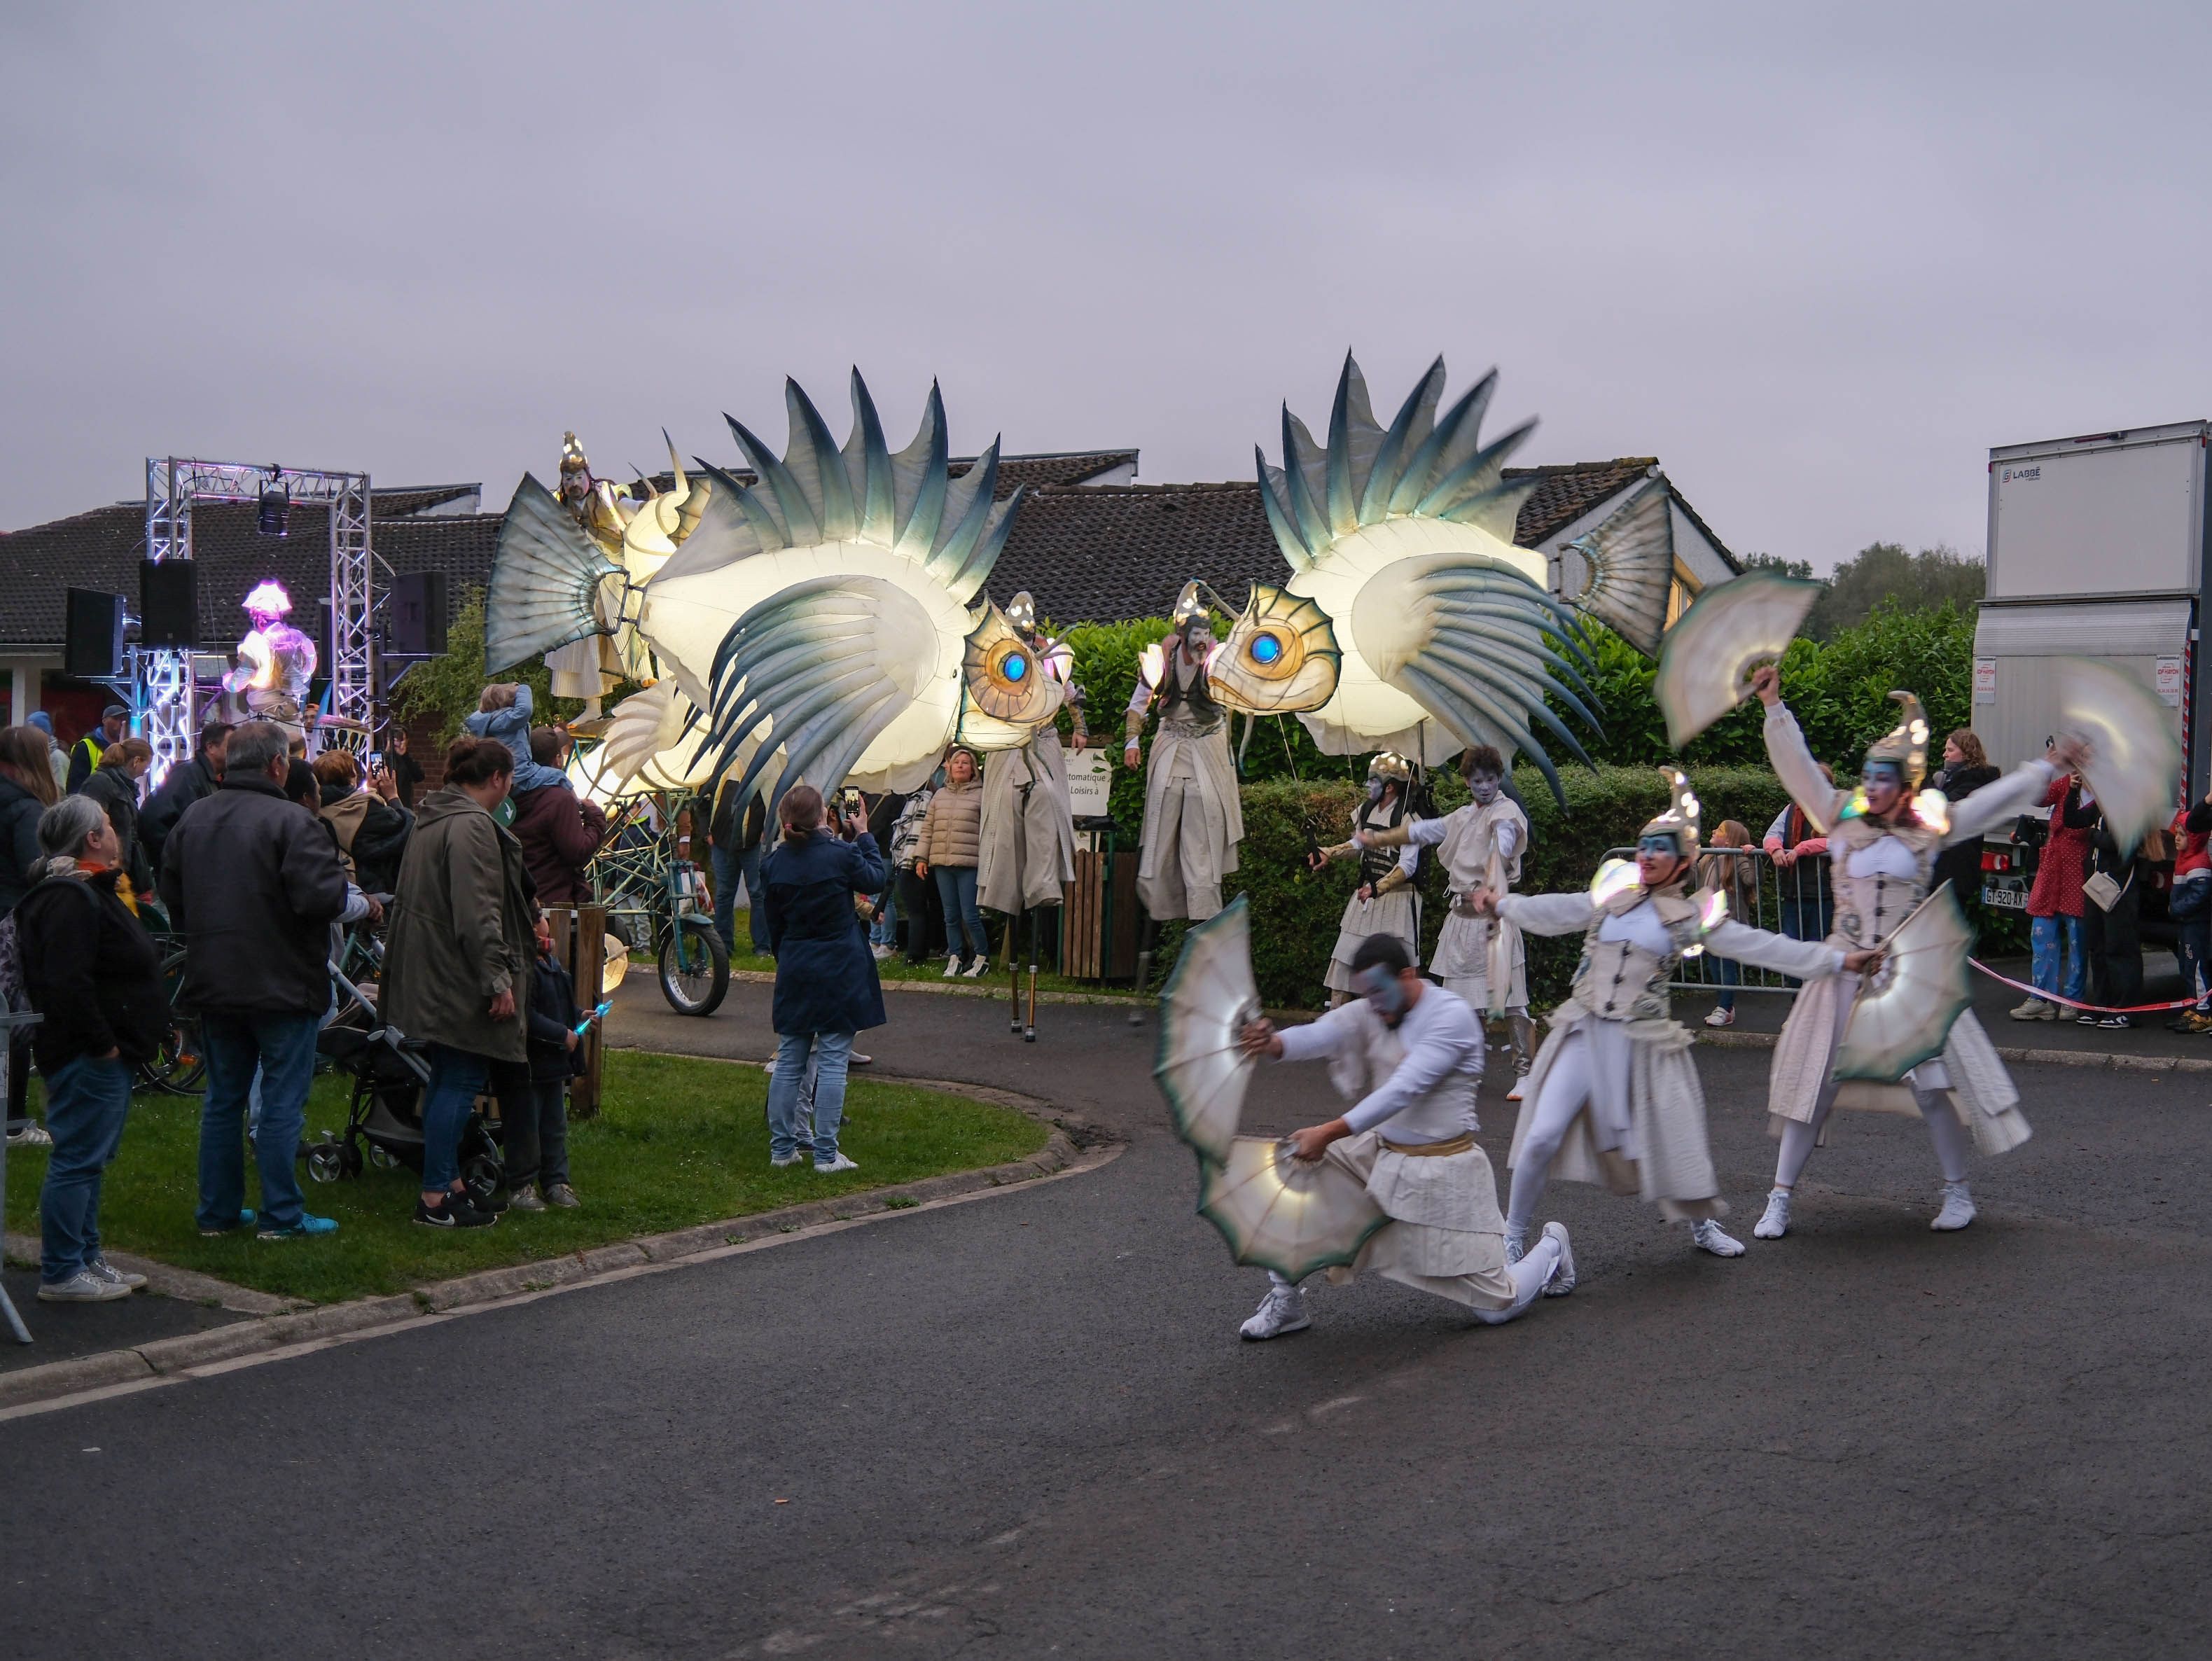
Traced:
[[[316, 1079], [307, 1099], [310, 1141], [323, 1128], [345, 1128], [345, 1088], [334, 1075]], [[507, 1212], [498, 1228], [449, 1234], [414, 1223], [420, 1179], [411, 1170], [369, 1168], [358, 1179], [312, 1183], [303, 1166], [307, 1210], [338, 1219], [336, 1234], [257, 1241], [239, 1230], [206, 1241], [192, 1225], [199, 1099], [142, 1095], [106, 1174], [100, 1234], [119, 1252], [279, 1296], [338, 1303], [807, 1199], [1002, 1166], [1037, 1152], [1048, 1135], [1011, 1108], [856, 1077], [838, 1143], [860, 1170], [816, 1177], [810, 1166], [770, 1170], [765, 1112], [768, 1073], [757, 1066], [608, 1051], [599, 1117], [568, 1128], [568, 1170], [582, 1210]], [[254, 1203], [252, 1161], [246, 1170]], [[9, 1150], [9, 1230], [38, 1234], [44, 1174], [44, 1150]]]

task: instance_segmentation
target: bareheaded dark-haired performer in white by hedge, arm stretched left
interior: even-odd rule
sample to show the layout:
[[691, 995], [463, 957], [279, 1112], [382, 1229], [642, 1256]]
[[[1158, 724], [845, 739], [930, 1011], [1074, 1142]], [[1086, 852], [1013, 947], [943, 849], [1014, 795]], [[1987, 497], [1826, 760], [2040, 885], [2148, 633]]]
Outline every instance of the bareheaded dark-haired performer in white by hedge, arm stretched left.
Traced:
[[1444, 878], [1451, 885], [1449, 911], [1436, 940], [1436, 962], [1429, 967], [1478, 1015], [1506, 1017], [1506, 1031], [1513, 1033], [1513, 1093], [1506, 1101], [1520, 1101], [1528, 1068], [1535, 1064], [1528, 953], [1520, 929], [1498, 916], [1473, 911], [1469, 896], [1478, 889], [1504, 894], [1520, 880], [1520, 860], [1528, 849], [1528, 814], [1504, 794], [1506, 763], [1491, 745], [1478, 743], [1460, 752], [1460, 776], [1473, 796], [1467, 807], [1385, 832], [1374, 845], [1394, 847], [1405, 840], [1433, 847], [1444, 860]]

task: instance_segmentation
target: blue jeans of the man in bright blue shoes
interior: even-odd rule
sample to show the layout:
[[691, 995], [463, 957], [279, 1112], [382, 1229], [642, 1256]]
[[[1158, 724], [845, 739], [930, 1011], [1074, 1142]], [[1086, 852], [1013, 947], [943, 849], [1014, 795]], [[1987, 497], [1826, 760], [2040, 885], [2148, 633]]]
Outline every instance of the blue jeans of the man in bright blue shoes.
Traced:
[[299, 1223], [299, 1132], [307, 1121], [321, 1024], [314, 1015], [201, 1017], [199, 1048], [208, 1057], [208, 1095], [199, 1104], [201, 1228], [239, 1225], [246, 1205], [246, 1099], [254, 1088], [254, 1068], [261, 1068], [261, 1128], [254, 1132], [261, 1223]]

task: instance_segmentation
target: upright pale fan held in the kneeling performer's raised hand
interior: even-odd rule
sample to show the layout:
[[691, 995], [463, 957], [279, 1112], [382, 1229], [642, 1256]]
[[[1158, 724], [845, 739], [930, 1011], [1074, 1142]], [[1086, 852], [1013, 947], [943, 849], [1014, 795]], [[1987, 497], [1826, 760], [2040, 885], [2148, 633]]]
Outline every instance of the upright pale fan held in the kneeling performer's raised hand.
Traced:
[[1252, 913], [1239, 894], [1183, 936], [1183, 955], [1159, 993], [1159, 1055], [1152, 1062], [1175, 1135], [1214, 1166], [1230, 1157], [1243, 1117], [1254, 1062], [1239, 1037], [1259, 1013]]

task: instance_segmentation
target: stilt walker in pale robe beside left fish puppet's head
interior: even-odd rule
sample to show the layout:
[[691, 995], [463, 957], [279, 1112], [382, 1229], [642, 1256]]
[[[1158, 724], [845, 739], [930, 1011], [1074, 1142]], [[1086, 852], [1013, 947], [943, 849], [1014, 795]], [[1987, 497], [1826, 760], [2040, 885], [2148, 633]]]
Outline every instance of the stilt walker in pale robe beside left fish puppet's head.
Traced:
[[[1066, 652], [1053, 657], [1051, 641], [1037, 639], [1037, 604], [1018, 593], [1006, 604], [1006, 621], [1029, 646], [1024, 675], [1064, 672]], [[1075, 748], [1084, 750], [1084, 697], [1068, 686], [1066, 708], [1075, 721]], [[1006, 969], [1013, 975], [1013, 1031], [1037, 1042], [1037, 933], [1044, 913], [1066, 898], [1075, 880], [1075, 809], [1068, 801], [1068, 763], [1060, 750], [1060, 725], [1042, 721], [1029, 743], [995, 750], [982, 772], [982, 847], [975, 871], [975, 902], [1006, 916]], [[1029, 916], [1029, 1015], [1022, 1013], [1022, 918]]]

